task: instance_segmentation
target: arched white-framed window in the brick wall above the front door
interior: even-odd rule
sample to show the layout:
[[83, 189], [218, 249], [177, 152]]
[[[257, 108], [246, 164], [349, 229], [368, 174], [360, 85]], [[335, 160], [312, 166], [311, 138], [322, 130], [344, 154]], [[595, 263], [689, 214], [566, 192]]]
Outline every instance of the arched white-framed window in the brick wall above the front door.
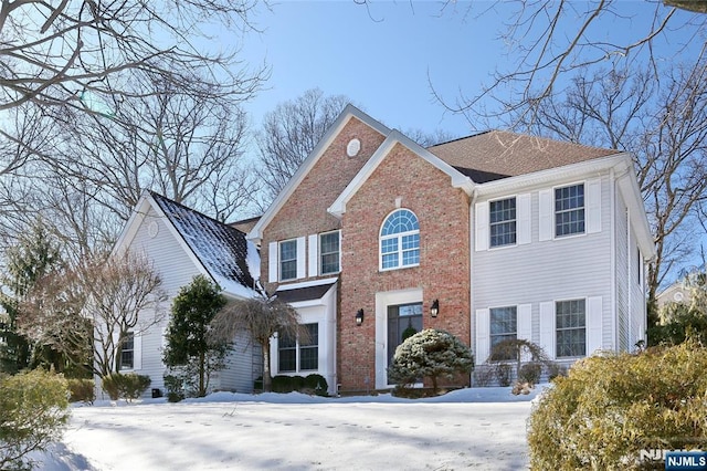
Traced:
[[381, 270], [420, 264], [420, 224], [410, 210], [399, 209], [383, 222], [380, 231]]

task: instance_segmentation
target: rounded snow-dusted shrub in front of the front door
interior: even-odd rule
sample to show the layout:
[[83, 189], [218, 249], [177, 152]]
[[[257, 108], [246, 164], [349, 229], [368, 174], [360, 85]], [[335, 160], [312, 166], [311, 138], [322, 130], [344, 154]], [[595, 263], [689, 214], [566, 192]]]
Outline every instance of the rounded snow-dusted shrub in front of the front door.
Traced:
[[462, 341], [449, 332], [425, 328], [395, 348], [388, 378], [403, 386], [415, 383], [416, 378], [430, 378], [436, 393], [440, 377], [451, 379], [473, 369], [474, 356]]

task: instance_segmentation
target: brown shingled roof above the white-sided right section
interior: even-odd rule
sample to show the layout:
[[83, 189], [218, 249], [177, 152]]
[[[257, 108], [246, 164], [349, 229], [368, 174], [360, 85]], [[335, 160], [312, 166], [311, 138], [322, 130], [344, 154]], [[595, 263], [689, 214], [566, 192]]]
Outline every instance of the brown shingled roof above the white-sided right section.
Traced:
[[479, 178], [474, 179], [476, 182], [532, 174], [619, 154], [615, 149], [506, 130], [489, 130], [439, 144], [428, 150], [472, 178], [476, 172], [476, 178]]

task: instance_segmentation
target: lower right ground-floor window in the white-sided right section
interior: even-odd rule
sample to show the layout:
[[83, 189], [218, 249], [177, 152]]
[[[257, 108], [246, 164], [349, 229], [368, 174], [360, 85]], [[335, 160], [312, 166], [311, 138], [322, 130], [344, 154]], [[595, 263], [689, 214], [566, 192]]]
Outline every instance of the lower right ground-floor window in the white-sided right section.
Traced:
[[557, 357], [587, 354], [587, 307], [584, 300], [560, 301], [555, 305]]

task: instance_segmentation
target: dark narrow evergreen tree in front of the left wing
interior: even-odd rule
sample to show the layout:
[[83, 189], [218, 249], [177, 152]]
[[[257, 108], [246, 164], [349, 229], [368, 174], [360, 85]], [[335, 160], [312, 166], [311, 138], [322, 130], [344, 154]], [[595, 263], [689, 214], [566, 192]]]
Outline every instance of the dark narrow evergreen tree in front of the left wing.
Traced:
[[230, 342], [215, 341], [209, 333], [225, 304], [221, 289], [203, 275], [194, 276], [172, 302], [162, 359], [198, 397], [207, 395], [211, 373], [225, 366]]

